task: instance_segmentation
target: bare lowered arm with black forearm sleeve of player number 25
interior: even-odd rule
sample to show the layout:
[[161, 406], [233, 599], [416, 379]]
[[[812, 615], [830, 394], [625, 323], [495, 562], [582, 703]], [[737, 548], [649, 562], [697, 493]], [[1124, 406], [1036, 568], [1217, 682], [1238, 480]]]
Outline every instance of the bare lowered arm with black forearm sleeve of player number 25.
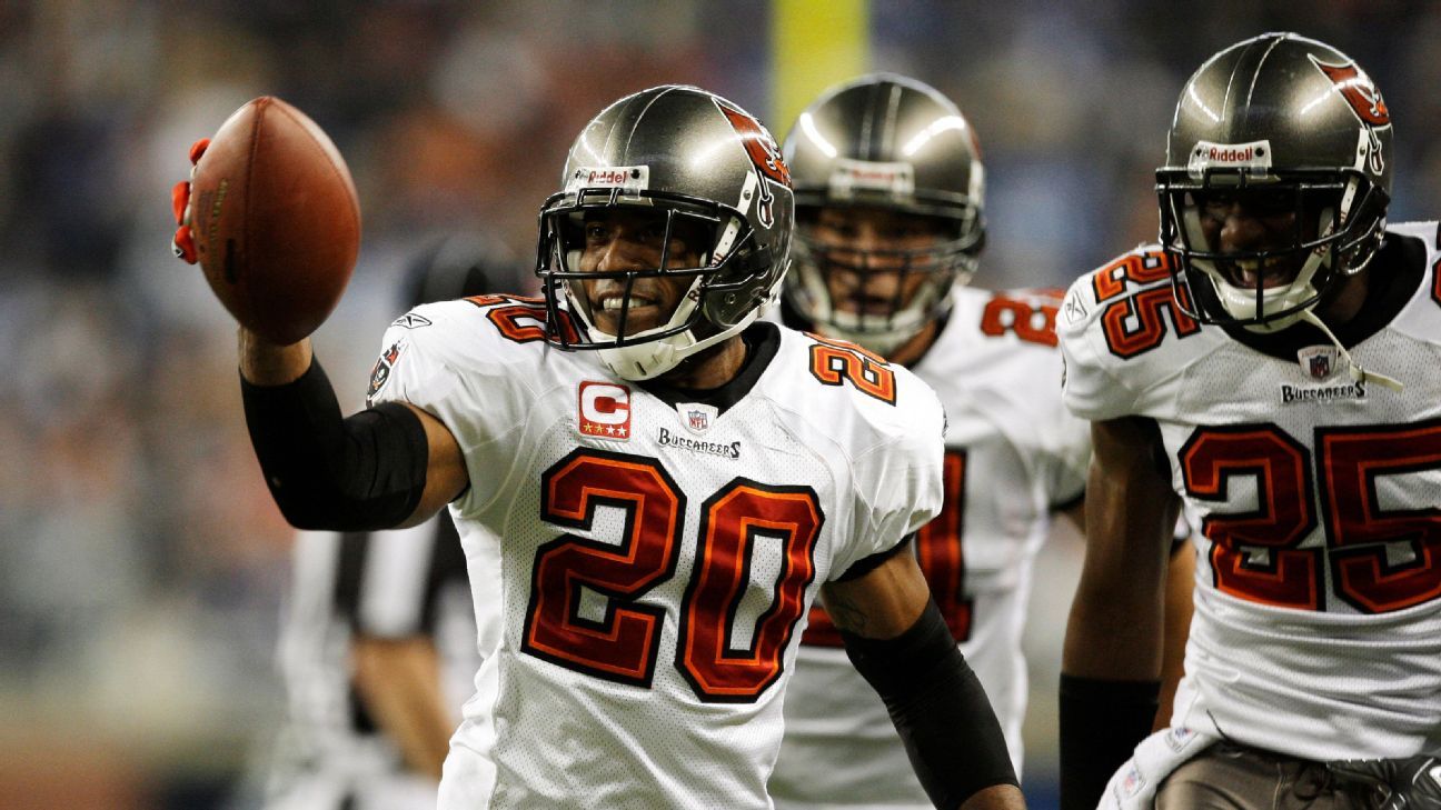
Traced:
[[1094, 422], [1087, 548], [1061, 672], [1061, 806], [1091, 810], [1156, 721], [1179, 500], [1151, 419]]

